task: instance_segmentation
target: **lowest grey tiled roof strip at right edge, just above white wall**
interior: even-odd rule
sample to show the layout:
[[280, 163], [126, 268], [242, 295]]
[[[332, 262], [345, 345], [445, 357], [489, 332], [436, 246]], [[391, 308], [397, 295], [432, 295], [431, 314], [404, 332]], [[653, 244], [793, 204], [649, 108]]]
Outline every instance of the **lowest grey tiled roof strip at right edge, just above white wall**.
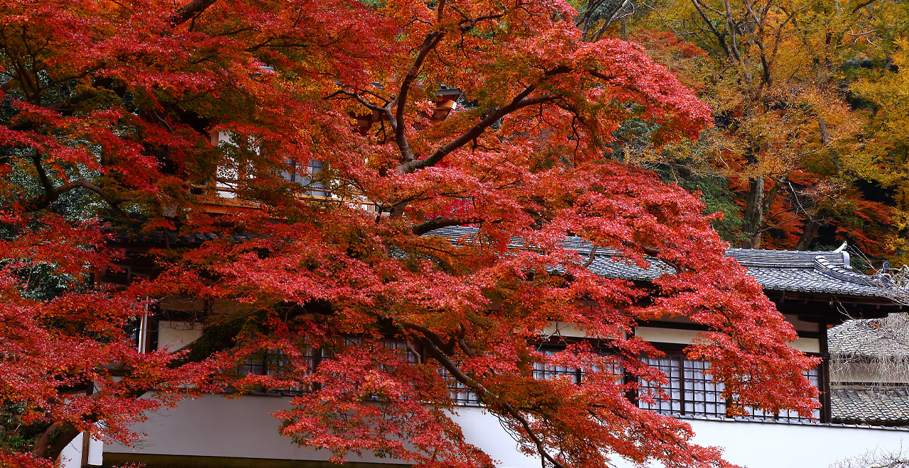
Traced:
[[832, 386], [830, 409], [834, 422], [909, 424], [909, 387]]

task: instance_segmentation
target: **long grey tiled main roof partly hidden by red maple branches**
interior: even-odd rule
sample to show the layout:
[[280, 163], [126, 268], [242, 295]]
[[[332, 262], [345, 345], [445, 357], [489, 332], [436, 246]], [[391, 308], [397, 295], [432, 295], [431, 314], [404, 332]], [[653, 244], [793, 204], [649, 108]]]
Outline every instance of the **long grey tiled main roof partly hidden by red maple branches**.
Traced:
[[[469, 239], [477, 229], [452, 227], [436, 229], [430, 234], [448, 239]], [[512, 239], [514, 248], [522, 248], [520, 239]], [[569, 237], [564, 246], [589, 256], [593, 245], [584, 239]], [[879, 278], [852, 271], [846, 252], [809, 252], [798, 250], [729, 249], [728, 255], [738, 260], [748, 274], [764, 289], [776, 291], [838, 294], [848, 296], [887, 297], [885, 288], [878, 286]], [[596, 249], [590, 269], [606, 278], [647, 281], [674, 269], [656, 258], [648, 258], [650, 266], [640, 268], [611, 249]]]

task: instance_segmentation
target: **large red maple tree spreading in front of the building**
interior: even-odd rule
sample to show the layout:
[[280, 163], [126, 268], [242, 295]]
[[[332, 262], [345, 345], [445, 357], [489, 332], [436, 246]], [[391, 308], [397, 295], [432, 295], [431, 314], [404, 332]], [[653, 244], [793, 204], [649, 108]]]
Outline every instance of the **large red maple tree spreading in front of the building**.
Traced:
[[[299, 444], [490, 465], [446, 411], [459, 385], [556, 467], [724, 466], [613, 370], [665, 382], [630, 333], [664, 316], [713, 330], [689, 356], [713, 362], [733, 412], [811, 414], [814, 360], [700, 201], [608, 158], [629, 118], [659, 143], [696, 135], [709, 109], [641, 47], [585, 43], [568, 3], [0, 5], [0, 398], [38, 428], [0, 462], [47, 464], [81, 431], [129, 440], [189, 387], [293, 385], [308, 391], [282, 432]], [[450, 113], [441, 84], [463, 93]], [[454, 226], [475, 235], [437, 235]], [[569, 235], [672, 269], [603, 278]], [[155, 278], [98, 287], [136, 245]], [[162, 297], [215, 305], [206, 333], [140, 353], [129, 324]], [[553, 321], [600, 345], [528, 346]], [[227, 372], [265, 351], [279, 373]]]

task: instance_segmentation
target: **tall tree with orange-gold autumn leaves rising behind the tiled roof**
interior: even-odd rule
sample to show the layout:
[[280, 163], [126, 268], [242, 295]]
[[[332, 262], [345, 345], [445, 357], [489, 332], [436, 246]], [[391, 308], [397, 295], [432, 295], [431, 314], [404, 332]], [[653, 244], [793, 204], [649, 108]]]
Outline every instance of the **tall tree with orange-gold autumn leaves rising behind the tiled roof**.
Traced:
[[684, 0], [624, 8], [634, 11], [622, 22], [632, 37], [657, 28], [674, 36], [670, 43], [705, 51], [667, 64], [681, 65], [676, 73], [688, 74], [714, 108], [717, 133], [701, 141], [701, 155], [742, 195], [743, 247], [808, 249], [827, 227], [873, 255], [886, 251], [893, 203], [865, 188], [885, 186], [886, 170], [866, 147], [866, 106], [849, 84], [857, 68], [894, 50], [904, 5]]

